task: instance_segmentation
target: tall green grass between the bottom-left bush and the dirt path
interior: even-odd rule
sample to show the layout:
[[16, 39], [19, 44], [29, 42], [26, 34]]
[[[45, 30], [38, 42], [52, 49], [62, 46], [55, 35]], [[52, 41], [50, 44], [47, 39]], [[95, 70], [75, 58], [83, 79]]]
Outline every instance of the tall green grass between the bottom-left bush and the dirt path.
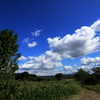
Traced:
[[59, 100], [68, 98], [71, 95], [77, 94], [80, 91], [80, 86], [66, 81], [50, 81], [23, 83], [20, 87], [21, 100]]

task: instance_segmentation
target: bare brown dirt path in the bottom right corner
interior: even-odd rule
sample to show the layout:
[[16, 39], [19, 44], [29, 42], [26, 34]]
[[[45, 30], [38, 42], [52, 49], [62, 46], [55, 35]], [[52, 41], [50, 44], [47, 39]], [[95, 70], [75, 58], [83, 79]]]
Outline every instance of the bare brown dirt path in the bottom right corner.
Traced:
[[75, 95], [67, 100], [100, 100], [100, 94], [83, 88], [80, 94]]

